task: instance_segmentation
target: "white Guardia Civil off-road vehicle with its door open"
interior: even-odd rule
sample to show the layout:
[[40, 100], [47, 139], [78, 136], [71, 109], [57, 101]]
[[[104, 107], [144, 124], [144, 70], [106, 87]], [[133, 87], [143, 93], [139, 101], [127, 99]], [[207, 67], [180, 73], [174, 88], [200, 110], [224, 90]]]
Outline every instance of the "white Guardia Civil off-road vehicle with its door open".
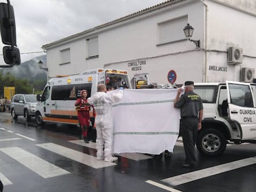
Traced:
[[195, 83], [194, 92], [201, 96], [204, 107], [198, 151], [218, 156], [227, 143], [256, 143], [255, 83]]

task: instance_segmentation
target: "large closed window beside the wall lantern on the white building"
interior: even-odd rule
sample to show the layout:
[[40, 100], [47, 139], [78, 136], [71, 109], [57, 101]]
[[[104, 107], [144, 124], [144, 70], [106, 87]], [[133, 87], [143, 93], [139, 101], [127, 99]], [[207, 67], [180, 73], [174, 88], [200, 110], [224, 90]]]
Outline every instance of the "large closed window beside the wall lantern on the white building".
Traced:
[[187, 25], [187, 15], [158, 23], [159, 44], [184, 40], [184, 26]]

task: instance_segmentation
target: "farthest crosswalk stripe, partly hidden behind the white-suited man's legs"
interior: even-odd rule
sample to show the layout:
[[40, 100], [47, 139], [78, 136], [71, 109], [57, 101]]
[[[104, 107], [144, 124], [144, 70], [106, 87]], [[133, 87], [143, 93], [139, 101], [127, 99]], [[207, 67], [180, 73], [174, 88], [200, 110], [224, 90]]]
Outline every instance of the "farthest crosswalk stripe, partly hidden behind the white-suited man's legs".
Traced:
[[[85, 146], [87, 148], [92, 148], [92, 149], [96, 149], [96, 143], [94, 142], [89, 142], [89, 143], [85, 143], [85, 141], [83, 140], [72, 140], [69, 141], [70, 143], [75, 143], [75, 144], [79, 144], [82, 146]], [[152, 159], [153, 157], [151, 156], [147, 156], [145, 154], [140, 154], [137, 152], [125, 152], [125, 153], [119, 153], [116, 154], [117, 156], [121, 156], [121, 157], [126, 157], [127, 159], [132, 159], [134, 161], [140, 161], [140, 160], [145, 160], [145, 159]]]

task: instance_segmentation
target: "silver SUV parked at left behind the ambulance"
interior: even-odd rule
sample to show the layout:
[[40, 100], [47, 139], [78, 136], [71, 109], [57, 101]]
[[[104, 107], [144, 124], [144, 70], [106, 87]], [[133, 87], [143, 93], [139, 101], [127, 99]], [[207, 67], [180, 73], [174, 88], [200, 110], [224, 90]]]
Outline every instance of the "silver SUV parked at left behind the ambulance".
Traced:
[[18, 115], [23, 115], [28, 121], [31, 117], [35, 117], [36, 108], [35, 94], [15, 94], [11, 101], [11, 115], [17, 119]]

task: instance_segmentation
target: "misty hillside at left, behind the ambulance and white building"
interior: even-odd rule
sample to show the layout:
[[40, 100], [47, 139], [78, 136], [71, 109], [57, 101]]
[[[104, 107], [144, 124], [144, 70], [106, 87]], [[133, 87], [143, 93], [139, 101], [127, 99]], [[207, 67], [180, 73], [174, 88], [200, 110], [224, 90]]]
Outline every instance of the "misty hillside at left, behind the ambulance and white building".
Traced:
[[40, 60], [43, 62], [45, 66], [47, 66], [46, 55], [43, 55], [30, 59], [29, 61], [23, 62], [20, 65], [2, 68], [0, 69], [0, 72], [2, 72], [4, 75], [7, 72], [9, 72], [16, 78], [27, 79], [29, 81], [47, 80], [46, 71], [38, 67], [38, 61]]

